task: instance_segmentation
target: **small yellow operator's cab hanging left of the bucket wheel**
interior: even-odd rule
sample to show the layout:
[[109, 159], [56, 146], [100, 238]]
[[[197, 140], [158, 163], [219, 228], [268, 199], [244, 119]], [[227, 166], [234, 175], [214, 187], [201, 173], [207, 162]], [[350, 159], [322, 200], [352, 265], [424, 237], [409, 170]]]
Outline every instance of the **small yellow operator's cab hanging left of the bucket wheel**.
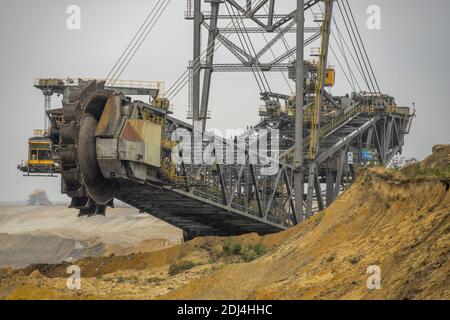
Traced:
[[28, 160], [22, 161], [18, 169], [25, 175], [58, 173], [59, 165], [53, 160], [52, 142], [44, 134], [28, 139]]

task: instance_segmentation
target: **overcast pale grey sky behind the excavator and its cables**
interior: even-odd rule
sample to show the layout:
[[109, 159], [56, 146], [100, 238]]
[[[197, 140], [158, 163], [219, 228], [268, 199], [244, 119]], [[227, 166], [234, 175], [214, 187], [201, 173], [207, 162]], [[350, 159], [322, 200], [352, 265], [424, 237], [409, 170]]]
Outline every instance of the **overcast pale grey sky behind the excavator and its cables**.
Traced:
[[[288, 11], [294, 0], [279, 1]], [[103, 78], [120, 56], [155, 0], [1, 0], [0, 201], [25, 200], [38, 188], [52, 200], [59, 179], [25, 178], [16, 170], [26, 158], [27, 139], [43, 126], [43, 97], [34, 77]], [[383, 92], [401, 105], [417, 106], [404, 154], [423, 158], [438, 143], [450, 143], [450, 27], [448, 0], [350, 0]], [[68, 30], [66, 9], [81, 8], [81, 30]], [[365, 27], [369, 5], [381, 8], [382, 29]], [[173, 0], [136, 55], [123, 79], [163, 80], [168, 87], [187, 66], [192, 53], [192, 23], [184, 20], [185, 1]], [[317, 46], [317, 45], [316, 45]], [[223, 48], [220, 50], [224, 50]], [[218, 58], [227, 59], [218, 52]], [[330, 64], [336, 64], [330, 58]], [[342, 73], [335, 94], [349, 91]], [[284, 90], [283, 78], [270, 75], [271, 86]], [[186, 115], [186, 90], [173, 101], [175, 115]], [[257, 122], [260, 104], [251, 74], [214, 74], [213, 119], [219, 129], [245, 128]], [[288, 93], [288, 92], [287, 92]], [[58, 106], [58, 98], [53, 105]]]

